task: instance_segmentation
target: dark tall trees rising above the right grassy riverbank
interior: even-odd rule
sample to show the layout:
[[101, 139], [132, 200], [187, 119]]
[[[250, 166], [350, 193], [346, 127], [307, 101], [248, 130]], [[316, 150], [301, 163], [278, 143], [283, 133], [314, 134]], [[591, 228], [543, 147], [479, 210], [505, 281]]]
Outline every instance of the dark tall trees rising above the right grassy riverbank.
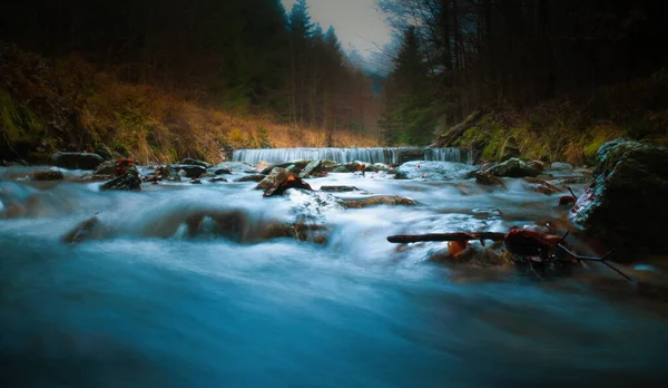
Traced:
[[[414, 124], [452, 124], [487, 105], [531, 106], [668, 65], [668, 51], [650, 43], [668, 39], [662, 0], [380, 0], [379, 8], [404, 36], [383, 97], [390, 143], [415, 143]], [[409, 60], [415, 47], [420, 56]], [[416, 79], [401, 81], [406, 71]]]

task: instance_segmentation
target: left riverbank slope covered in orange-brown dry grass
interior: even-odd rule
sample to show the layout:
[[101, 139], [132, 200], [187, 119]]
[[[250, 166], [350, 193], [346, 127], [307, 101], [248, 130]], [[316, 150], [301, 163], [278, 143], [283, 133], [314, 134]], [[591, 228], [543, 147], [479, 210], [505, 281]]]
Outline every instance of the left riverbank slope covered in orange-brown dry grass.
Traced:
[[[56, 151], [91, 151], [139, 163], [212, 162], [222, 148], [325, 145], [321, 128], [279, 124], [175, 91], [119, 83], [78, 58], [46, 59], [0, 45], [0, 159], [43, 164]], [[334, 133], [335, 146], [375, 139]]]

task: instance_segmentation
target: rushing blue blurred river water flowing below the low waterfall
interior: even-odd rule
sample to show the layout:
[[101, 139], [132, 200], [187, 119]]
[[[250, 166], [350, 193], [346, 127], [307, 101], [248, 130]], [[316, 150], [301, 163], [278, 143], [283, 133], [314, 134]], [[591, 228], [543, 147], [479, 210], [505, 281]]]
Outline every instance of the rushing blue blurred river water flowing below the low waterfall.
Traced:
[[[314, 188], [348, 184], [420, 203], [333, 210], [322, 246], [259, 239], [263, 225], [293, 216], [293, 204], [262, 198], [254, 183], [101, 193], [99, 183], [9, 180], [20, 175], [0, 171], [3, 386], [668, 382], [665, 299], [608, 269], [592, 264], [538, 281], [515, 270], [425, 261], [439, 243], [397, 249], [385, 240], [563, 217], [556, 196], [519, 181], [489, 192], [471, 181], [379, 174], [310, 180]], [[191, 214], [230, 211], [240, 214], [236, 237], [206, 225], [184, 233]], [[96, 213], [107, 227], [99, 240], [61, 241]], [[622, 268], [638, 279], [665, 277]]]

